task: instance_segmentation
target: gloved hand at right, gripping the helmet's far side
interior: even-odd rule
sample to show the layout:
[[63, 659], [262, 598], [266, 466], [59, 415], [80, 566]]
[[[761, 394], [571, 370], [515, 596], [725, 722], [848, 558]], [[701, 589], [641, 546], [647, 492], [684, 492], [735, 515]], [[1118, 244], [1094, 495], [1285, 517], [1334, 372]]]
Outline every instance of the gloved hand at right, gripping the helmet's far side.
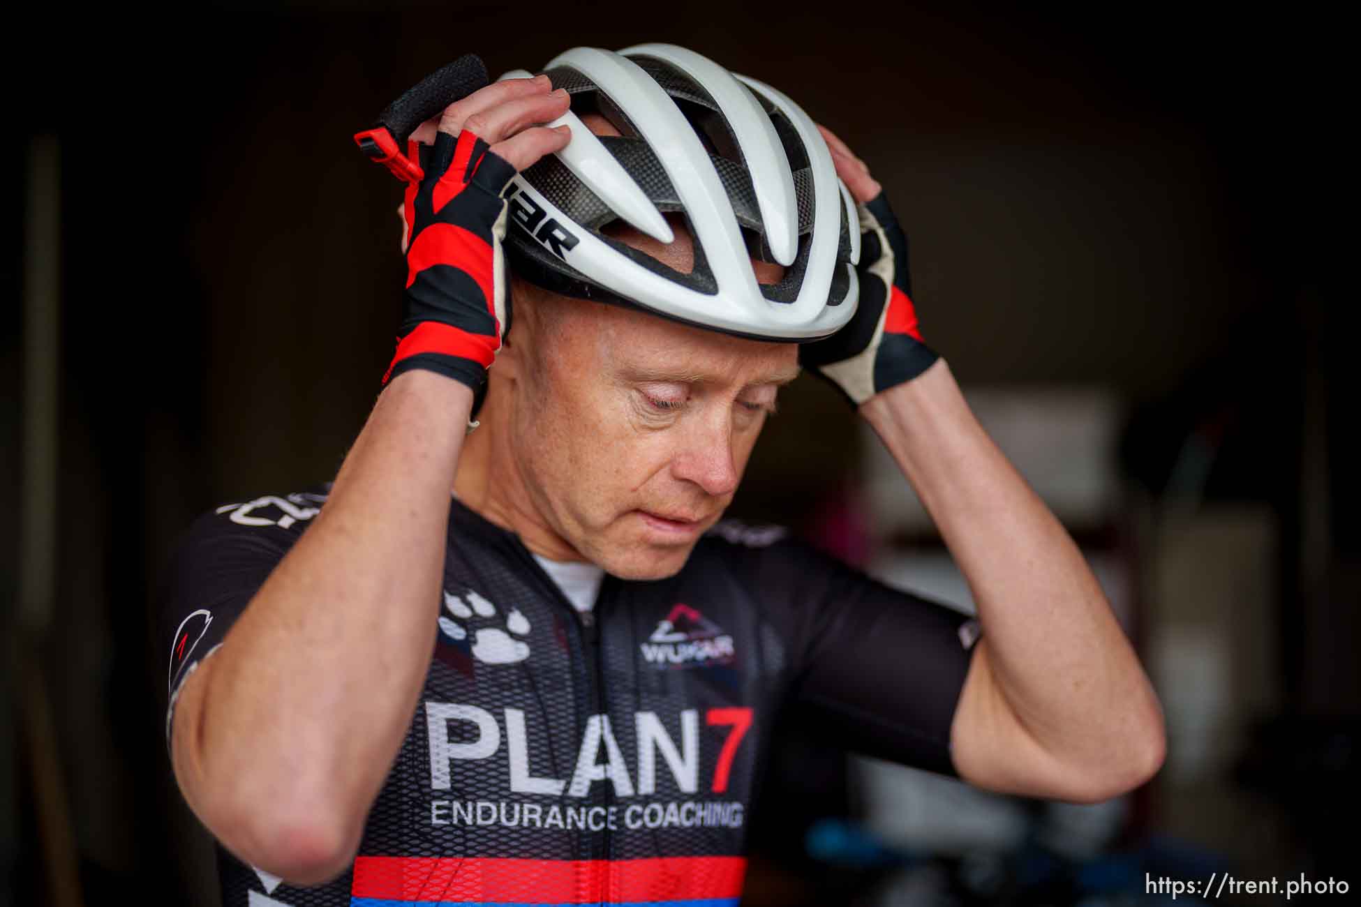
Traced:
[[874, 394], [912, 381], [939, 355], [921, 341], [908, 276], [908, 241], [870, 167], [844, 141], [818, 126], [837, 175], [860, 209], [860, 302], [830, 337], [799, 347], [799, 362], [859, 407]]

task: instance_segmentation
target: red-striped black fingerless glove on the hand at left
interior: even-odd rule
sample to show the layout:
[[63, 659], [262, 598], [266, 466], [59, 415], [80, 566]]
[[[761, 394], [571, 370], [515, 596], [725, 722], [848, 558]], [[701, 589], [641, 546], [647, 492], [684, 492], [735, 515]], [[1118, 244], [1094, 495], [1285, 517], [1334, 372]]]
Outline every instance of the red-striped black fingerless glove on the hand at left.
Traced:
[[[410, 148], [415, 158], [418, 144]], [[472, 388], [475, 417], [510, 328], [501, 190], [514, 167], [467, 129], [457, 139], [438, 133], [423, 165], [421, 182], [406, 192], [407, 288], [382, 382], [411, 369], [437, 371]]]

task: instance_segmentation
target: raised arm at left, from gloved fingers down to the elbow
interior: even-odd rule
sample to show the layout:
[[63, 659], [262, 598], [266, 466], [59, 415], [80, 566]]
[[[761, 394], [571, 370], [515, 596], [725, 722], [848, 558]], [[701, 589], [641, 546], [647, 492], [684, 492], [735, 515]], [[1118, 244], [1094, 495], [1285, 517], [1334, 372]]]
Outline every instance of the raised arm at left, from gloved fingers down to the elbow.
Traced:
[[[434, 154], [421, 192], [407, 194], [403, 247], [421, 250], [407, 287], [419, 298], [404, 296], [391, 381], [320, 514], [181, 687], [171, 759], [185, 800], [229, 850], [290, 883], [350, 863], [411, 725], [471, 388], [509, 324], [495, 279], [472, 294], [430, 275], [494, 275], [501, 186], [569, 141], [565, 126], [534, 125], [566, 107], [547, 78], [512, 79], [416, 131]], [[460, 148], [467, 158], [450, 167]]]

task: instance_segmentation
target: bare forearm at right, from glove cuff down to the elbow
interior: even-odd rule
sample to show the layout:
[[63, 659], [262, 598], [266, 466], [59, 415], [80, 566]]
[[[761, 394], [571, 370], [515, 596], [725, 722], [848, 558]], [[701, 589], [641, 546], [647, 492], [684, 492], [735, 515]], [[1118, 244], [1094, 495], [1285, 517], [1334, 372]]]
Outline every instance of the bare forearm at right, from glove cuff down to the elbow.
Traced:
[[1053, 764], [1132, 775], [1161, 759], [1157, 698], [1096, 577], [945, 360], [860, 411], [968, 579], [994, 692]]

